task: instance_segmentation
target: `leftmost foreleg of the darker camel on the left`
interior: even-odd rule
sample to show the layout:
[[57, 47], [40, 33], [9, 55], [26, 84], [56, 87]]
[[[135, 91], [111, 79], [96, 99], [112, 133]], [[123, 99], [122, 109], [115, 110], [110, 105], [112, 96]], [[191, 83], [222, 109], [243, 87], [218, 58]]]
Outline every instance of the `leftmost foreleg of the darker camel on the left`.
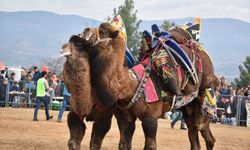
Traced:
[[70, 112], [68, 114], [68, 127], [70, 132], [69, 150], [80, 150], [86, 129], [85, 123], [74, 112]]

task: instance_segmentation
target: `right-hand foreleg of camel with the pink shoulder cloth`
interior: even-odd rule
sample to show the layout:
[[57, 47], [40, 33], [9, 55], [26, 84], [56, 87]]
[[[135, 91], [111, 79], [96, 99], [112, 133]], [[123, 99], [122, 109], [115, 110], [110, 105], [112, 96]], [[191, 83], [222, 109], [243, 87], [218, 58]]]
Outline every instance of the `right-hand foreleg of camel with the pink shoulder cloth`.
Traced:
[[156, 150], [156, 133], [158, 122], [153, 117], [146, 117], [142, 120], [142, 128], [145, 136], [144, 150]]

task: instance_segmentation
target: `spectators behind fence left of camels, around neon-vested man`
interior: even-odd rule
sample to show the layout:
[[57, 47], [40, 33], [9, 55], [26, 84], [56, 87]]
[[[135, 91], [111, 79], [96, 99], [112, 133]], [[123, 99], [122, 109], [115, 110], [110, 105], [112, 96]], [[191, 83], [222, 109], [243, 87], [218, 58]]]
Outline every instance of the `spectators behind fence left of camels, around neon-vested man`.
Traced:
[[[11, 106], [15, 101], [15, 96], [23, 94], [26, 105], [28, 105], [28, 99], [33, 99], [36, 97], [36, 84], [41, 77], [41, 73], [46, 71], [49, 87], [52, 89], [47, 94], [47, 96], [52, 99], [55, 96], [63, 96], [63, 80], [62, 77], [57, 76], [56, 73], [50, 72], [48, 68], [39, 68], [37, 66], [22, 72], [21, 79], [16, 80], [16, 73], [11, 72], [9, 74], [8, 68], [1, 70], [0, 72], [0, 106], [4, 107], [6, 102]], [[8, 97], [7, 97], [8, 96]], [[28, 96], [30, 96], [28, 98]], [[31, 102], [32, 103], [32, 102]]]

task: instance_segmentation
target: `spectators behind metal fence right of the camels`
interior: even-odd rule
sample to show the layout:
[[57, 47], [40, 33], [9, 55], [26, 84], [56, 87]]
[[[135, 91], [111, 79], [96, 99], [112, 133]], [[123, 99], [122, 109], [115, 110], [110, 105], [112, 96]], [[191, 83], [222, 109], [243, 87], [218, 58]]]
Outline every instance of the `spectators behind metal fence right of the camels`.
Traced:
[[250, 102], [250, 84], [245, 88], [239, 88], [229, 85], [224, 77], [221, 77], [220, 81], [221, 86], [215, 89], [219, 121], [224, 124], [235, 123], [238, 110], [240, 125], [245, 125], [247, 118], [245, 104]]

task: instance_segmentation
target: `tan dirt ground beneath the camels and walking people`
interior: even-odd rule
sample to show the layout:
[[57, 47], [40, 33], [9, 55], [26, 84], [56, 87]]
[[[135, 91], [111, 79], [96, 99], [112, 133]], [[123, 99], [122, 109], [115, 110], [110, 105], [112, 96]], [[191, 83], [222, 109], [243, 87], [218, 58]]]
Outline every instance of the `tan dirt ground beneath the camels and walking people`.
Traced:
[[[65, 112], [63, 122], [56, 122], [58, 111], [50, 111], [54, 118], [45, 120], [44, 110], [39, 111], [39, 121], [33, 122], [33, 109], [0, 108], [0, 150], [66, 150], [69, 131]], [[89, 149], [92, 123], [87, 123], [87, 130], [82, 142], [82, 149]], [[169, 120], [160, 119], [157, 134], [159, 150], [189, 149], [187, 131], [180, 130], [179, 124], [175, 129], [170, 128]], [[250, 150], [250, 129], [212, 124], [212, 131], [216, 137], [215, 150]], [[205, 142], [200, 136], [202, 149]], [[117, 149], [119, 132], [115, 118], [110, 131], [104, 139], [103, 150]], [[133, 149], [142, 150], [144, 135], [140, 121], [136, 122], [133, 137]]]

